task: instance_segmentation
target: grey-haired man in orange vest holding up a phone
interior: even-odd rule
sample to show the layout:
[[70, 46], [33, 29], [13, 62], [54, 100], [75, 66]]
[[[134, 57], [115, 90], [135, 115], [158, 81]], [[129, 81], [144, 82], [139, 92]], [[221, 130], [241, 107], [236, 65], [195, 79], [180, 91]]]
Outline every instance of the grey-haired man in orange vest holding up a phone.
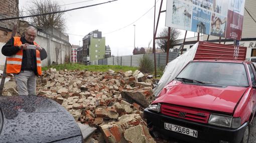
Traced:
[[42, 75], [41, 60], [47, 57], [46, 50], [34, 40], [37, 29], [26, 28], [22, 37], [12, 37], [2, 48], [7, 56], [7, 73], [14, 73], [19, 95], [36, 94], [36, 75]]

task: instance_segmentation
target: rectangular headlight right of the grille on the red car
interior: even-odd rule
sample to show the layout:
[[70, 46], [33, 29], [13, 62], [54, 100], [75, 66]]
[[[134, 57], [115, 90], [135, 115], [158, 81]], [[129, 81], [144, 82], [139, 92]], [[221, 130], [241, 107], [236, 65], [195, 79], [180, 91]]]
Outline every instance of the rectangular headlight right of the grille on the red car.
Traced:
[[237, 128], [241, 125], [241, 118], [221, 114], [211, 114], [208, 123], [218, 126]]

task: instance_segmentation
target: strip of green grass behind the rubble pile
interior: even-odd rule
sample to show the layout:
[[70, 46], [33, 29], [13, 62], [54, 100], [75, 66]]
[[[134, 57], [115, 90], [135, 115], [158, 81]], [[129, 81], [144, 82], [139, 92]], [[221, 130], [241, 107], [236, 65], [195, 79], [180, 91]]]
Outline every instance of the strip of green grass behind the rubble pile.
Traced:
[[84, 65], [84, 64], [77, 64], [77, 63], [68, 63], [68, 64], [58, 64], [58, 65], [49, 65], [42, 67], [42, 70], [47, 70], [49, 68], [56, 68], [57, 70], [89, 70], [89, 71], [102, 71], [105, 72], [109, 68], [113, 69], [114, 71], [127, 71], [127, 70], [133, 70], [135, 71], [138, 69], [138, 67], [131, 67], [131, 66], [120, 66], [120, 65]]

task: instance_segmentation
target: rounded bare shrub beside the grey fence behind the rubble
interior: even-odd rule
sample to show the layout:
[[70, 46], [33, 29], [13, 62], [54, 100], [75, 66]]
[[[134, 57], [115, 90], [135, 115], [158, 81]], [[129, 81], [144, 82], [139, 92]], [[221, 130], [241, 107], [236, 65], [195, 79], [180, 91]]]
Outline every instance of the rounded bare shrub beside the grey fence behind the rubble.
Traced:
[[140, 59], [140, 70], [144, 73], [151, 73], [154, 70], [153, 62], [147, 55]]

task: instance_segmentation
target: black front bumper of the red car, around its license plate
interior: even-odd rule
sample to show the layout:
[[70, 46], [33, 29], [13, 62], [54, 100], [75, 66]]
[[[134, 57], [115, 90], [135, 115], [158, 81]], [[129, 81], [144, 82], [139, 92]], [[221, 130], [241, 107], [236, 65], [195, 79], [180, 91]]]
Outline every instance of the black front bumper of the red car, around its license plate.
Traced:
[[[220, 142], [220, 140], [239, 143], [243, 137], [243, 133], [248, 122], [245, 122], [239, 128], [225, 128], [210, 124], [193, 122], [177, 117], [171, 117], [162, 113], [156, 113], [144, 110], [144, 118], [147, 119], [148, 126], [153, 127], [166, 137], [177, 138], [189, 142]], [[179, 132], [167, 130], [164, 128], [164, 122], [180, 125], [198, 131], [197, 138]]]

